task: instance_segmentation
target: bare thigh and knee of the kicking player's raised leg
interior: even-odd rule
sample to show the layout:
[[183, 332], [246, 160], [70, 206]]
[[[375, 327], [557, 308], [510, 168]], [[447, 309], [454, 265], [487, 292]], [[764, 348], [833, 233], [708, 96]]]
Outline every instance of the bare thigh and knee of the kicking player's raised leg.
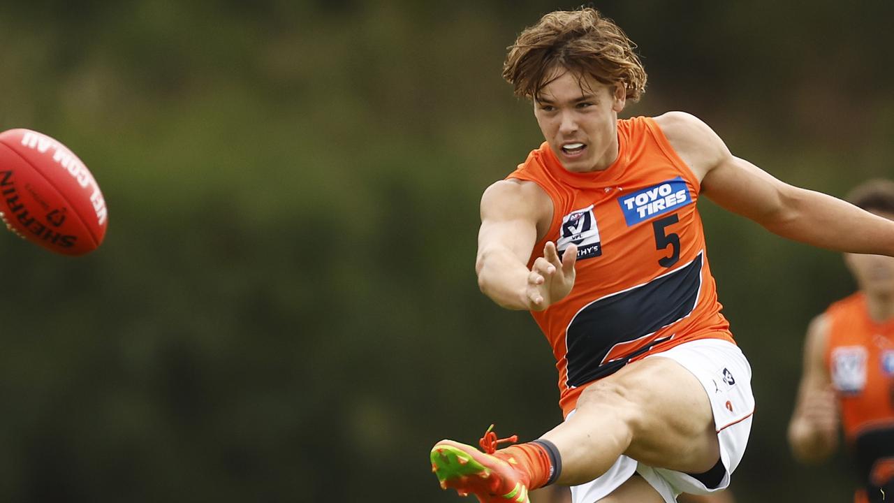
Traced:
[[701, 473], [720, 458], [708, 396], [678, 362], [655, 356], [630, 363], [587, 387], [578, 399], [578, 414], [612, 409], [630, 429], [624, 454], [645, 465]]

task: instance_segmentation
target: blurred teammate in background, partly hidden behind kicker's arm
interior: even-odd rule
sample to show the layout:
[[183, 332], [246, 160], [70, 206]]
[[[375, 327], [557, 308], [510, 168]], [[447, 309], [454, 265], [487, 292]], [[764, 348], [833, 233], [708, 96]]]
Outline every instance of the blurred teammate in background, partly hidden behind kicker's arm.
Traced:
[[[848, 196], [894, 220], [894, 182], [873, 180]], [[856, 294], [814, 318], [789, 424], [798, 460], [818, 463], [838, 447], [839, 409], [860, 477], [856, 502], [894, 499], [894, 259], [845, 254]]]

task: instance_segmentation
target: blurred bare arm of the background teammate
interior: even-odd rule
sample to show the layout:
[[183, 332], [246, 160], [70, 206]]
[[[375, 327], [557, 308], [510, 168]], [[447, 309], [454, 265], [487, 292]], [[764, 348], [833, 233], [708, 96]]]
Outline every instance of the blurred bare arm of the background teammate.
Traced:
[[792, 453], [804, 463], [819, 463], [838, 447], [838, 407], [823, 360], [828, 336], [829, 323], [821, 314], [807, 328], [804, 371], [789, 423]]

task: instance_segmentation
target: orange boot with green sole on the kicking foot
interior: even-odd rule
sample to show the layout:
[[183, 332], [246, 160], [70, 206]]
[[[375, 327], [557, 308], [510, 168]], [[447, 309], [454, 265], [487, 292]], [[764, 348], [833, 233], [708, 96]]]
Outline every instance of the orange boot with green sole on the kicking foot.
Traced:
[[453, 440], [441, 440], [432, 448], [432, 472], [441, 482], [441, 489], [454, 489], [460, 496], [474, 494], [480, 503], [530, 503], [527, 473], [516, 468], [514, 459], [494, 456], [498, 443], [517, 439], [514, 435], [497, 439], [492, 424], [478, 441], [484, 452]]

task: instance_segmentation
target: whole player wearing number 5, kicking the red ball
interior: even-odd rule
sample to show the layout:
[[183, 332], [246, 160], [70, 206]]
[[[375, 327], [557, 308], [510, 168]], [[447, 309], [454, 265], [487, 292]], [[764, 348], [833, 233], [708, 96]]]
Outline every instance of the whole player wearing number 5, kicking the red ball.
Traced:
[[545, 15], [510, 47], [503, 76], [533, 100], [545, 141], [482, 196], [478, 284], [533, 313], [565, 421], [500, 450], [512, 439], [491, 430], [484, 452], [438, 442], [445, 489], [525, 503], [558, 483], [574, 503], [658, 503], [729, 485], [754, 398], [720, 312], [701, 195], [790, 239], [894, 255], [894, 222], [780, 182], [692, 115], [619, 120], [645, 90], [631, 45], [582, 9]]

